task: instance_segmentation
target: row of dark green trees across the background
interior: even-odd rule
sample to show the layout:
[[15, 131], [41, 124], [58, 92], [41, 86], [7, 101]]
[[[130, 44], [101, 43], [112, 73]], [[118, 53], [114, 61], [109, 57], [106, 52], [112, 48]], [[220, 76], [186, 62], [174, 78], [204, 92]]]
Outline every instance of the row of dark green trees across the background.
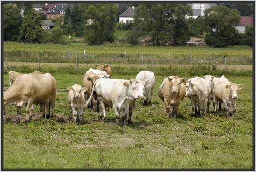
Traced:
[[[125, 6], [125, 5], [123, 5]], [[24, 42], [63, 43], [64, 33], [84, 37], [89, 45], [114, 41], [117, 14], [125, 8], [116, 4], [74, 4], [66, 9], [64, 25], [55, 27], [52, 33], [41, 28], [43, 16], [25, 5], [24, 17], [20, 16], [18, 5], [5, 4], [3, 9], [4, 40]], [[136, 8], [134, 23], [117, 25], [121, 30], [130, 30], [126, 41], [137, 44], [138, 38], [147, 35], [152, 45], [182, 46], [192, 36], [204, 35], [205, 43], [213, 47], [247, 44], [252, 45], [252, 26], [247, 26], [245, 34], [239, 34], [235, 26], [240, 22], [240, 12], [224, 5], [206, 9], [204, 17], [186, 18], [192, 15], [191, 6], [178, 3], [143, 3]], [[46, 39], [49, 38], [49, 39]]]

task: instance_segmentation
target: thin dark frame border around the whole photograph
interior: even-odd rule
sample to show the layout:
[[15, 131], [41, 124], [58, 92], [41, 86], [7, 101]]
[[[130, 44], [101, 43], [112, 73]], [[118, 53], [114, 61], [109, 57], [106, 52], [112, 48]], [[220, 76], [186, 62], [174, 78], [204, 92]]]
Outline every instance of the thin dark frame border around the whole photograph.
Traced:
[[[3, 5], [6, 3], [253, 3], [253, 168], [252, 169], [4, 169], [3, 168], [3, 115], [1, 115], [1, 171], [255, 171], [255, 1], [1, 1], [1, 30], [3, 30]], [[3, 31], [1, 31], [1, 114], [3, 114]]]

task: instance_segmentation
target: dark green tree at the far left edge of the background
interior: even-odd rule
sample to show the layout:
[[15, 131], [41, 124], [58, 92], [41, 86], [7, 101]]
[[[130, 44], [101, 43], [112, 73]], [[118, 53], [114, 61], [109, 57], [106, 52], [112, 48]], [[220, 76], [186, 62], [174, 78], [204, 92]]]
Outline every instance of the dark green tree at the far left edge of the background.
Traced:
[[18, 40], [22, 17], [20, 9], [13, 4], [3, 5], [3, 40]]

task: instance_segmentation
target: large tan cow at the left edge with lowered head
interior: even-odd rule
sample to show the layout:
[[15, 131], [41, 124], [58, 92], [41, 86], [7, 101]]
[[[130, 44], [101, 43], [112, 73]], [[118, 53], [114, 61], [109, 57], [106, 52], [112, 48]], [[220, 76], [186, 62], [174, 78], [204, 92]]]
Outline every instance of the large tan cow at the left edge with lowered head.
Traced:
[[55, 98], [56, 81], [51, 74], [23, 74], [3, 92], [4, 115], [5, 107], [16, 104], [18, 113], [16, 122], [20, 122], [21, 107], [27, 105], [25, 122], [29, 122], [32, 104], [40, 104], [40, 111], [43, 114], [44, 107], [46, 108], [45, 118], [53, 118]]

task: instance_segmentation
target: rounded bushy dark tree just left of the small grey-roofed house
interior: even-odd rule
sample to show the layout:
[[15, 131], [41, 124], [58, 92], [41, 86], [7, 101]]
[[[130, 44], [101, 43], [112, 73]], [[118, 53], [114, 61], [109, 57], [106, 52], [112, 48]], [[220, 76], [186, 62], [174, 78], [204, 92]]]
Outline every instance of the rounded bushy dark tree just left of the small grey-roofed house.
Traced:
[[35, 10], [28, 11], [20, 27], [20, 40], [29, 43], [39, 42], [42, 30], [40, 15]]

